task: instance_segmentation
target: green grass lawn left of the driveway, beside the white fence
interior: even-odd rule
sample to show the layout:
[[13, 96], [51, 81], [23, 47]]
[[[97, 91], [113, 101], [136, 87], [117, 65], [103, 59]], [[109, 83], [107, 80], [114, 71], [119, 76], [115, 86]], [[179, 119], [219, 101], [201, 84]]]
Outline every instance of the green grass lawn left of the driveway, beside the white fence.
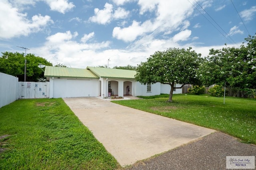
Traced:
[[120, 168], [62, 99], [18, 100], [0, 108], [0, 169]]

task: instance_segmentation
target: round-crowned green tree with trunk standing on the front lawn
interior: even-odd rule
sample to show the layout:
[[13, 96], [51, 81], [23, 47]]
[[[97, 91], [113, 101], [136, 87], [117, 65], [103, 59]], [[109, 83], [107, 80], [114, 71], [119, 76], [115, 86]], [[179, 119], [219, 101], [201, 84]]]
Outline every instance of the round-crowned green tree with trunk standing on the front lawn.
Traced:
[[[196, 71], [202, 61], [191, 47], [188, 49], [170, 48], [157, 51], [146, 62], [136, 68], [135, 80], [142, 84], [160, 82], [170, 85], [168, 102], [172, 102], [173, 91], [185, 84], [200, 84]], [[181, 84], [177, 87], [175, 84]]]

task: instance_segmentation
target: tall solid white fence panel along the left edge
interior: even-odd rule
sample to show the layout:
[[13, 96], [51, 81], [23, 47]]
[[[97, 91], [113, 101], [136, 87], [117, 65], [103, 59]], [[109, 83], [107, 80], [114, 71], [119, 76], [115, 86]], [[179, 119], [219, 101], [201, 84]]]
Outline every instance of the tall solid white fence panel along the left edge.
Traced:
[[18, 100], [18, 78], [0, 72], [0, 108]]

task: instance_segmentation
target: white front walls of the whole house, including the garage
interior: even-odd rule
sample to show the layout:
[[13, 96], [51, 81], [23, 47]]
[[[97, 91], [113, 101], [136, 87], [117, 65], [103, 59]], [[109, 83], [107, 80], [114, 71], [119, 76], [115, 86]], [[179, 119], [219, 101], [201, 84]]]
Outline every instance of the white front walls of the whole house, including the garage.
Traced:
[[[155, 83], [151, 85], [151, 92], [147, 92], [147, 86], [126, 79], [76, 79], [76, 78], [50, 78], [50, 98], [70, 98], [70, 97], [95, 97], [102, 98], [108, 96], [108, 82], [111, 82], [111, 89], [114, 95], [126, 95], [126, 87], [130, 86], [129, 95], [132, 96], [154, 96], [170, 93], [170, 85]], [[176, 84], [180, 86], [180, 84]], [[174, 94], [181, 94], [182, 89], [176, 89]]]

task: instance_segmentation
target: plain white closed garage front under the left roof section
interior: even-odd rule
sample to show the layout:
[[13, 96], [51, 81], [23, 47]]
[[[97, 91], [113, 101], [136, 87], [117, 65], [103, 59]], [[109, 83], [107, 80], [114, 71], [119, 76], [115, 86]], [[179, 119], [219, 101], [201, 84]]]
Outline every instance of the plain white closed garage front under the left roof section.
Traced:
[[98, 79], [50, 78], [50, 98], [95, 97]]

